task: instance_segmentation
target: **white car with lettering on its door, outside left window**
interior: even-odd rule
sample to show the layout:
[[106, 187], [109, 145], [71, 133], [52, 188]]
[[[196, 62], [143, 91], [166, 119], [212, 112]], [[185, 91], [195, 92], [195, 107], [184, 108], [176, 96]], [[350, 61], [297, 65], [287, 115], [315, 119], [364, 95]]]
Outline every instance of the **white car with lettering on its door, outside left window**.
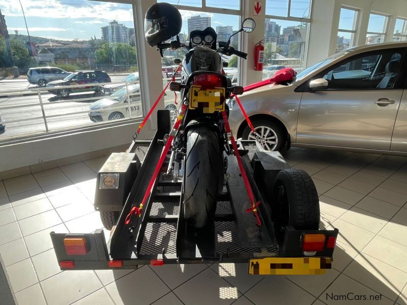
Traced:
[[[111, 96], [91, 104], [89, 117], [94, 122], [142, 116], [140, 84], [129, 85], [130, 102], [126, 87]], [[131, 116], [130, 116], [131, 112]]]

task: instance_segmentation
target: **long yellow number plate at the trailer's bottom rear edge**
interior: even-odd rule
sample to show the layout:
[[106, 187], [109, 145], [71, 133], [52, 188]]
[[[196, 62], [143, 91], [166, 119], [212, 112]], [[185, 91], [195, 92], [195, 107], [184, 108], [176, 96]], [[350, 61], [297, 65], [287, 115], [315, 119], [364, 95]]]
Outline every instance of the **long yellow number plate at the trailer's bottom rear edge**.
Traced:
[[323, 275], [331, 263], [327, 257], [252, 258], [249, 275]]

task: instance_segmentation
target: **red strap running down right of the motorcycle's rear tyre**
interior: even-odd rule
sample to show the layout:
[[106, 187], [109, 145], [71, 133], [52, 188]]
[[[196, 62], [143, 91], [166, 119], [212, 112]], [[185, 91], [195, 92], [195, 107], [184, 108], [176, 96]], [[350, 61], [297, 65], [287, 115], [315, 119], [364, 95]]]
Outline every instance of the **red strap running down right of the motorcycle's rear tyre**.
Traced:
[[242, 160], [240, 158], [238, 145], [236, 144], [235, 138], [232, 136], [231, 131], [230, 131], [230, 126], [229, 126], [229, 122], [227, 120], [226, 111], [222, 111], [222, 116], [223, 116], [223, 122], [225, 124], [227, 136], [228, 136], [228, 138], [230, 138], [230, 142], [232, 143], [233, 150], [235, 150], [235, 156], [236, 156], [236, 159], [238, 160], [240, 173], [242, 174], [243, 182], [245, 184], [247, 194], [249, 195], [250, 207], [246, 210], [246, 212], [248, 212], [248, 213], [253, 212], [253, 215], [256, 218], [257, 226], [261, 227], [261, 220], [260, 220], [260, 217], [258, 216], [258, 211], [257, 211], [257, 206], [260, 204], [260, 202], [259, 201], [256, 202], [254, 199], [254, 194], [253, 194], [253, 191], [250, 186], [249, 178], [247, 177], [246, 171], [243, 167]]

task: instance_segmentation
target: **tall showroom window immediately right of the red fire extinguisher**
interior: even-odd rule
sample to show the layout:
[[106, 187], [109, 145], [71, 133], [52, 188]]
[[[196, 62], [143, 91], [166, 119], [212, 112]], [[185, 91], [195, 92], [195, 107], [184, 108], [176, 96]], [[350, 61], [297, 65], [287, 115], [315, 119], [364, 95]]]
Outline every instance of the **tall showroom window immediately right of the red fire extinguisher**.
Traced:
[[304, 69], [309, 10], [310, 2], [306, 0], [266, 2], [263, 79], [284, 67], [292, 67], [297, 72]]

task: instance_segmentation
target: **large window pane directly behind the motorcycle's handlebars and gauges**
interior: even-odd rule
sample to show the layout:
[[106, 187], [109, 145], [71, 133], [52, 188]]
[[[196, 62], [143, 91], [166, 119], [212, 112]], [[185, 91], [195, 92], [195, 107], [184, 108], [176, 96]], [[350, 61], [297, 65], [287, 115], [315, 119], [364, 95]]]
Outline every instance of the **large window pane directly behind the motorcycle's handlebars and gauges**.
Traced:
[[[236, 33], [240, 29], [240, 17], [237, 15], [227, 14], [214, 14], [214, 13], [202, 13], [196, 11], [180, 10], [182, 15], [182, 29], [180, 34], [181, 42], [186, 45], [189, 44], [189, 33], [194, 30], [203, 30], [208, 26], [215, 29], [217, 34], [217, 41], [227, 41], [229, 37]], [[239, 50], [238, 42], [239, 35], [247, 35], [243, 32], [235, 35], [231, 39], [231, 46]], [[184, 58], [186, 53], [185, 48], [179, 48], [177, 50], [165, 50], [163, 52], [164, 57], [161, 59], [162, 64], [162, 77], [163, 86], [165, 86], [171, 79], [172, 72], [177, 69], [178, 65], [174, 63], [175, 58]], [[228, 67], [224, 68], [226, 74], [231, 78], [232, 84], [238, 83], [238, 57], [221, 55], [223, 61], [228, 63]], [[176, 81], [181, 80], [181, 73], [176, 74]], [[179, 107], [180, 95], [177, 97], [174, 92], [167, 89], [164, 96], [165, 108], [170, 111], [175, 111]]]

